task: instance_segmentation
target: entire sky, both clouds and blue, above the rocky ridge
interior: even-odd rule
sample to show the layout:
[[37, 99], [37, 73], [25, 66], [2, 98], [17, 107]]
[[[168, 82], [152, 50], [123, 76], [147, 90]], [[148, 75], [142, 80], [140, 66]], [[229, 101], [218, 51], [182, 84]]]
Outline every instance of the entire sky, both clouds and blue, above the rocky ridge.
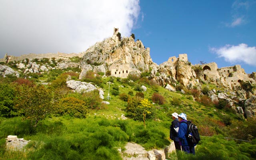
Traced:
[[256, 0], [0, 0], [0, 58], [79, 53], [132, 33], [161, 64], [240, 64], [256, 72]]

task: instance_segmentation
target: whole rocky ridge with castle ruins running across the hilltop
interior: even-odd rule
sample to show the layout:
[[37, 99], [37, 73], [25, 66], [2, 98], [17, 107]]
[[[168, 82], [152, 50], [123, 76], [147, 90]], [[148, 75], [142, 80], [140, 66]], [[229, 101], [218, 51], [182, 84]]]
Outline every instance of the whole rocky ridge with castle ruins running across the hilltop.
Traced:
[[[72, 60], [74, 57], [81, 60], [74, 61]], [[45, 58], [49, 60], [43, 64]], [[187, 54], [172, 56], [166, 62], [157, 65], [150, 57], [150, 48], [145, 48], [140, 40], [134, 41], [132, 35], [122, 38], [118, 28], [114, 28], [114, 34], [110, 38], [97, 42], [79, 54], [28, 54], [20, 57], [6, 54], [0, 62], [16, 63], [18, 69], [22, 68], [22, 71], [13, 70], [0, 64], [1, 76], [8, 74], [19, 76], [20, 72], [25, 75], [40, 74], [54, 69], [79, 67], [81, 69], [79, 79], [83, 79], [89, 70], [100, 75], [120, 78], [127, 78], [129, 74], [136, 76], [143, 74], [152, 82], [172, 92], [175, 92], [178, 86], [202, 91], [202, 84], [204, 86], [214, 84], [221, 89], [212, 89], [205, 93], [212, 102], [224, 100], [239, 114], [248, 117], [256, 115], [256, 72], [246, 74], [240, 65], [218, 68], [214, 62], [192, 65], [188, 61]], [[181, 91], [185, 93], [184, 90]]]

